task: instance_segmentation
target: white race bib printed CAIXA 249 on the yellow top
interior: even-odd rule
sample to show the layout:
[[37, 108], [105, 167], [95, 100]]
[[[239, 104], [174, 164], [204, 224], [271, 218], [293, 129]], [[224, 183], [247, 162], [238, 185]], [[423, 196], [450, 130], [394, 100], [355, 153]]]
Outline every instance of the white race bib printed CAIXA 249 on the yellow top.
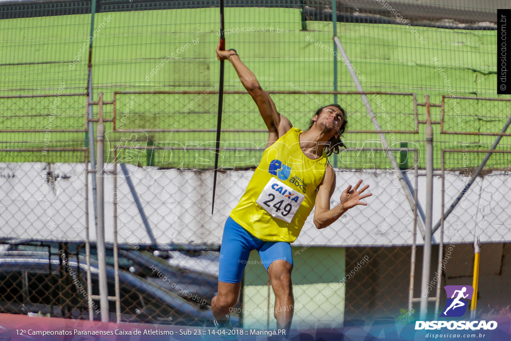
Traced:
[[304, 194], [272, 177], [255, 202], [272, 217], [290, 223], [304, 198]]

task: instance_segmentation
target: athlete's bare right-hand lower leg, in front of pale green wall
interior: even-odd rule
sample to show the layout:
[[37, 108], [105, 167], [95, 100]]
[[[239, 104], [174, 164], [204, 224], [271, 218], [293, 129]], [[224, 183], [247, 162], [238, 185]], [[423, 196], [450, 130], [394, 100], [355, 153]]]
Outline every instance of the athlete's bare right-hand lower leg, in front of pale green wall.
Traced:
[[283, 259], [274, 261], [268, 267], [271, 286], [275, 293], [274, 315], [277, 320], [277, 328], [285, 329], [287, 335], [289, 335], [294, 313], [292, 270], [293, 266]]

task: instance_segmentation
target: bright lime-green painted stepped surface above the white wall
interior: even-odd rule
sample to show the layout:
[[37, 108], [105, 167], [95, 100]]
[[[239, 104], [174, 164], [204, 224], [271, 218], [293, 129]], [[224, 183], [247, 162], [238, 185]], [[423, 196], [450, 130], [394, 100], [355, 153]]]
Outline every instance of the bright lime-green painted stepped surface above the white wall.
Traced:
[[[312, 113], [320, 104], [333, 102], [330, 95], [312, 95], [314, 90], [333, 89], [332, 24], [308, 21], [309, 31], [301, 31], [297, 9], [227, 8], [227, 48], [238, 50], [267, 90], [296, 90], [300, 95], [273, 95], [277, 109], [295, 126], [306, 129]], [[63, 93], [84, 93], [87, 82], [87, 53], [90, 15], [68, 15], [30, 19], [0, 20], [0, 58], [7, 65], [0, 73], [0, 95], [55, 94], [59, 86]], [[204, 90], [217, 88], [219, 63], [214, 49], [218, 42], [217, 9], [176, 9], [99, 13], [95, 19], [97, 36], [94, 40], [92, 79], [94, 99], [104, 93], [105, 100], [114, 91], [144, 90]], [[255, 30], [253, 32], [252, 30]], [[451, 89], [456, 95], [496, 97], [496, 31], [446, 30], [401, 25], [371, 25], [338, 23], [337, 32], [351, 62], [364, 77], [366, 91], [415, 92], [417, 100], [440, 102], [440, 94]], [[421, 40], [415, 37], [420, 37]], [[309, 39], [307, 39], [309, 37]], [[310, 39], [318, 41], [317, 44]], [[322, 46], [321, 44], [324, 44]], [[73, 63], [73, 60], [76, 63]], [[435, 65], [438, 62], [438, 68]], [[442, 74], [443, 72], [443, 74]], [[445, 81], [447, 80], [447, 82]], [[346, 67], [339, 63], [338, 87], [355, 90]], [[225, 89], [243, 90], [234, 68], [226, 63]], [[132, 98], [133, 103], [130, 103]], [[383, 97], [382, 97], [383, 98]], [[58, 132], [57, 129], [83, 129], [85, 98], [62, 97], [51, 113], [54, 98], [4, 99], [0, 103], [0, 129], [47, 129], [51, 147], [83, 146], [84, 133]], [[360, 96], [340, 95], [339, 103], [349, 112], [350, 129], [374, 129]], [[385, 112], [370, 98], [382, 126], [385, 113], [396, 130], [413, 130], [413, 99], [404, 96], [384, 97]], [[460, 131], [500, 131], [509, 115], [507, 103], [457, 100], [461, 108], [455, 111], [446, 102], [445, 129]], [[217, 95], [118, 95], [117, 127], [122, 129], [216, 129]], [[419, 119], [425, 119], [424, 107], [419, 107]], [[440, 120], [440, 109], [432, 108], [433, 120]], [[95, 108], [97, 115], [97, 108]], [[106, 118], [112, 108], [105, 106]], [[121, 119], [124, 121], [121, 122]], [[461, 120], [459, 125], [458, 120]], [[51, 124], [49, 124], [51, 122]], [[248, 95], [225, 95], [224, 129], [264, 129], [257, 107]], [[113, 128], [111, 123], [106, 129]], [[435, 132], [438, 132], [435, 126]], [[42, 147], [46, 132], [2, 133], [4, 147]], [[110, 147], [129, 133], [110, 133]], [[130, 135], [130, 134], [129, 134]], [[394, 140], [408, 141], [425, 150], [424, 128], [418, 134], [396, 134]], [[214, 132], [164, 132], [137, 134], [137, 141], [148, 141], [174, 150], [172, 159], [167, 151], [155, 151], [154, 165], [160, 167], [211, 168], [213, 153], [185, 150], [184, 146], [206, 147], [215, 140]], [[224, 133], [227, 147], [262, 146], [266, 133]], [[379, 139], [377, 134], [346, 133], [350, 148], [360, 147], [367, 140]], [[440, 167], [439, 150], [461, 148], [487, 149], [494, 137], [435, 134], [435, 168]], [[159, 143], [158, 143], [159, 142]], [[344, 152], [338, 165], [344, 168], [387, 168], [381, 144], [374, 152]], [[399, 145], [399, 144], [398, 144]], [[108, 147], [108, 146], [107, 146]], [[499, 148], [509, 149], [504, 139]], [[262, 148], [260, 148], [262, 149]], [[379, 150], [379, 151], [378, 151]], [[226, 169], [254, 167], [262, 150], [227, 151], [221, 161]], [[354, 156], [356, 155], [356, 157]], [[424, 152], [419, 165], [424, 167]], [[492, 157], [491, 167], [507, 167], [507, 156]], [[471, 154], [469, 167], [478, 165], [482, 155]], [[9, 153], [0, 161], [79, 162], [83, 157], [40, 153]], [[252, 160], [253, 159], [253, 160]], [[138, 164], [144, 165], [143, 155]], [[111, 161], [111, 160], [109, 160]], [[331, 160], [332, 161], [332, 160]], [[457, 167], [455, 160], [452, 167]], [[374, 166], [373, 166], [374, 165]]]

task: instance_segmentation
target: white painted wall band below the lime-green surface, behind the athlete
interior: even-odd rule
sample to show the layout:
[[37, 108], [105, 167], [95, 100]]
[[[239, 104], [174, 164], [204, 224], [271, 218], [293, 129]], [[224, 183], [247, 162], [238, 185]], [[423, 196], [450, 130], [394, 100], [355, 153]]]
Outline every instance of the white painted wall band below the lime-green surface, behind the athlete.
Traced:
[[[220, 244], [223, 224], [237, 204], [253, 173], [252, 170], [218, 173], [215, 213], [211, 214], [213, 172], [156, 170], [126, 165], [138, 198], [148, 217], [147, 231], [133, 200], [126, 178], [118, 176], [118, 231], [120, 243]], [[43, 163], [0, 164], [0, 238], [37, 240], [85, 240], [85, 167], [83, 164], [54, 164], [49, 179]], [[113, 169], [108, 165], [108, 171]], [[118, 169], [118, 174], [122, 174]], [[419, 176], [419, 203], [425, 212], [424, 173]], [[408, 172], [410, 183], [414, 175]], [[413, 215], [401, 186], [393, 181], [393, 171], [358, 170], [337, 172], [334, 206], [348, 184], [358, 179], [370, 185], [373, 196], [368, 206], [357, 207], [327, 229], [317, 230], [312, 213], [294, 246], [409, 245], [412, 243]], [[459, 172], [446, 173], [446, 207], [466, 183]], [[445, 223], [445, 242], [511, 241], [511, 216], [506, 208], [511, 198], [508, 172], [493, 171], [477, 177]], [[94, 208], [89, 176], [89, 225], [94, 227]], [[442, 178], [434, 177], [433, 223], [442, 210]], [[105, 237], [113, 242], [113, 176], [105, 176]], [[433, 242], [438, 243], [439, 231]], [[90, 229], [95, 240], [95, 229]], [[417, 244], [423, 240], [417, 234]]]

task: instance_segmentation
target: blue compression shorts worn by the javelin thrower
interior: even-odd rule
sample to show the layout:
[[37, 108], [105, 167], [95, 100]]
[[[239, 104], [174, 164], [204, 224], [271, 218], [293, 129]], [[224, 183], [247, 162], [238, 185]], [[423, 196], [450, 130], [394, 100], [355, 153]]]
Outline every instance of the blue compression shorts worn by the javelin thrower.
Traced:
[[233, 218], [228, 217], [220, 248], [218, 280], [226, 283], [240, 283], [252, 250], [259, 252], [266, 271], [273, 261], [279, 259], [293, 265], [291, 244], [283, 241], [263, 241], [252, 236]]

